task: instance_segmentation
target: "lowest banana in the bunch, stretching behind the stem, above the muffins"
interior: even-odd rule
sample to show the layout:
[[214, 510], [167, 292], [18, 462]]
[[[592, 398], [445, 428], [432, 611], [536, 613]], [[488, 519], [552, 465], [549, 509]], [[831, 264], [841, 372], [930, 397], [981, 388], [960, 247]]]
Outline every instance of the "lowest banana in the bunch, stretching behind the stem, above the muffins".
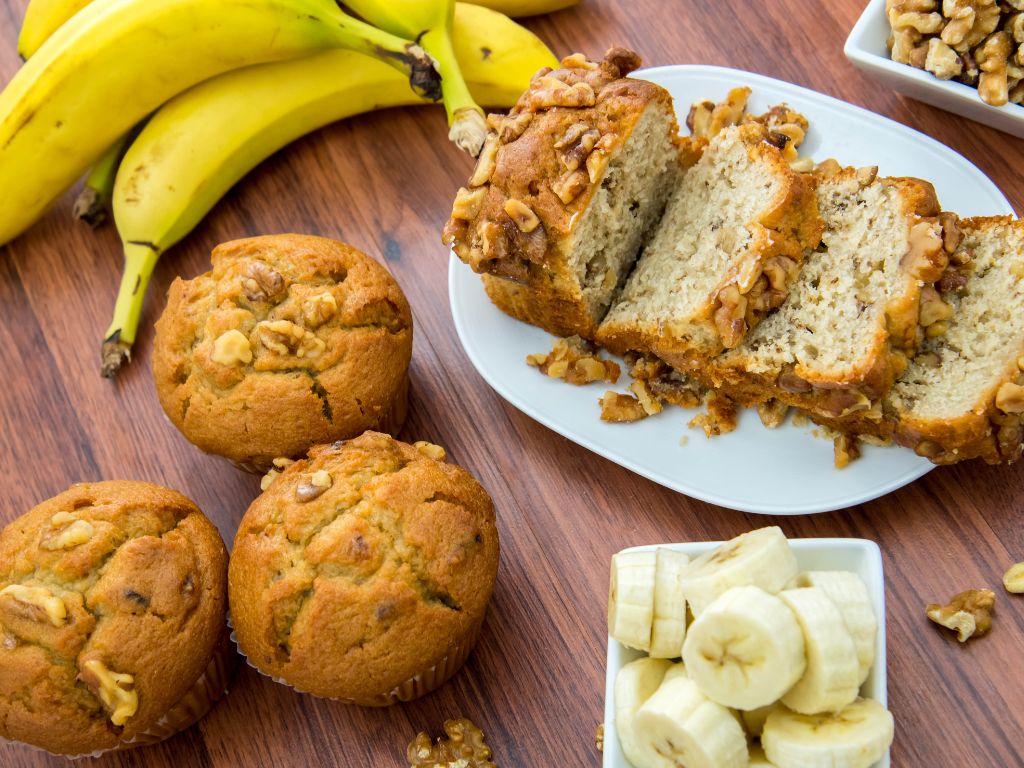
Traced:
[[[537, 70], [557, 66], [532, 33], [486, 8], [457, 3], [453, 40], [470, 91], [488, 105], [515, 103]], [[114, 189], [125, 271], [104, 334], [103, 375], [129, 358], [157, 259], [239, 179], [324, 125], [422, 100], [379, 61], [327, 51], [221, 75], [159, 110], [122, 161]]]

